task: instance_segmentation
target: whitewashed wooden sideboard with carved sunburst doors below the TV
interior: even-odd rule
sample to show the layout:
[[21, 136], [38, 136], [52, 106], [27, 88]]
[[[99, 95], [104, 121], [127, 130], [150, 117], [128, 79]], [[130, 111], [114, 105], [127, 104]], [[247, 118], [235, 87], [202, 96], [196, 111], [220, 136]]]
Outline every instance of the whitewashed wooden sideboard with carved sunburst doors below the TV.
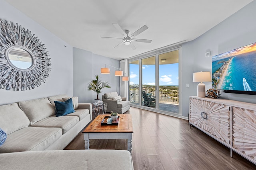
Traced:
[[256, 164], [256, 104], [190, 96], [189, 123]]

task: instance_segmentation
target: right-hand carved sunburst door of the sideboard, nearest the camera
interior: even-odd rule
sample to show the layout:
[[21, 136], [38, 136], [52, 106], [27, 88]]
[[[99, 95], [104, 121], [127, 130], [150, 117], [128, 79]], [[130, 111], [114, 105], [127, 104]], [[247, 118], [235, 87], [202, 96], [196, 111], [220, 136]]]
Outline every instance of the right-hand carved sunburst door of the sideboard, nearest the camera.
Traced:
[[233, 148], [256, 160], [256, 111], [232, 107]]

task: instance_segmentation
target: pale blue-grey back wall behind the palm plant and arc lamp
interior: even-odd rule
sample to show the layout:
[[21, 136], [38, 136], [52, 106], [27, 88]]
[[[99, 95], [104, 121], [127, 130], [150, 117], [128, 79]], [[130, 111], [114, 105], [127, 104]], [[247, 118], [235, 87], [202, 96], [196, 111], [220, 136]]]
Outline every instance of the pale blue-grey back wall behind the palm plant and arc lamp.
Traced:
[[[100, 68], [110, 68], [110, 74], [100, 74]], [[119, 68], [120, 62], [115, 59], [96, 55], [90, 51], [73, 48], [73, 95], [78, 96], [80, 103], [92, 103], [97, 95], [87, 89], [88, 83], [99, 75], [102, 81], [108, 81], [111, 88], [103, 88], [99, 98], [106, 92], [118, 92], [120, 94], [120, 77], [115, 76], [115, 68]], [[121, 77], [122, 78], [122, 77]]]

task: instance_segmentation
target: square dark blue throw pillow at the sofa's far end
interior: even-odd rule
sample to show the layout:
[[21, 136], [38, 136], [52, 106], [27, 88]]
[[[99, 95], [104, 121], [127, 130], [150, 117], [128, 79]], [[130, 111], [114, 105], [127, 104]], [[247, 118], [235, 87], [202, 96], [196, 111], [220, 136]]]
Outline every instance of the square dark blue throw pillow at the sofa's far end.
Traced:
[[56, 112], [57, 112], [56, 117], [75, 112], [72, 98], [66, 100], [65, 102], [54, 101], [54, 103], [55, 103]]

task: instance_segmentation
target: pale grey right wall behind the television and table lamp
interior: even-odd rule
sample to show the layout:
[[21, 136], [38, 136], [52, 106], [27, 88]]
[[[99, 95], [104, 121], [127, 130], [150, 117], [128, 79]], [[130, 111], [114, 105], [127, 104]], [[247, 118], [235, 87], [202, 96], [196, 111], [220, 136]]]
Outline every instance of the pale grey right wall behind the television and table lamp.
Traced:
[[[253, 1], [194, 41], [182, 45], [183, 116], [188, 117], [189, 96], [196, 96], [197, 83], [192, 82], [193, 72], [212, 71], [212, 57], [205, 57], [206, 50], [210, 49], [211, 56], [214, 56], [256, 42], [255, 9], [256, 1]], [[189, 88], [186, 88], [186, 83], [190, 84]], [[205, 84], [206, 90], [211, 88], [210, 82]], [[256, 103], [254, 95], [221, 91], [220, 97]]]

